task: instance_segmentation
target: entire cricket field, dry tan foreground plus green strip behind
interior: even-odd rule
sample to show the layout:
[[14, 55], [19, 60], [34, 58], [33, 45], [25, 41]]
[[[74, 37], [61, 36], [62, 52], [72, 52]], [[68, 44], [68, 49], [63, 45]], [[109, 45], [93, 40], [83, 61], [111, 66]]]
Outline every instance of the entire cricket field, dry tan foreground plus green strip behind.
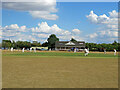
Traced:
[[113, 52], [2, 51], [3, 88], [117, 88]]

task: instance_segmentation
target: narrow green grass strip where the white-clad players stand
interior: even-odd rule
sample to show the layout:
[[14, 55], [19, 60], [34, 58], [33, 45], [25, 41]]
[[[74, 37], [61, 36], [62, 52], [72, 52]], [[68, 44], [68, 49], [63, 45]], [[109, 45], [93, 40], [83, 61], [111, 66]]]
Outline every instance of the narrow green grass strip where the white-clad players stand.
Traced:
[[[27, 57], [85, 57], [84, 53], [71, 53], [71, 52], [3, 52], [3, 56], [27, 56]], [[101, 57], [101, 58], [114, 58], [113, 54], [104, 54], [104, 53], [89, 53], [86, 57]]]

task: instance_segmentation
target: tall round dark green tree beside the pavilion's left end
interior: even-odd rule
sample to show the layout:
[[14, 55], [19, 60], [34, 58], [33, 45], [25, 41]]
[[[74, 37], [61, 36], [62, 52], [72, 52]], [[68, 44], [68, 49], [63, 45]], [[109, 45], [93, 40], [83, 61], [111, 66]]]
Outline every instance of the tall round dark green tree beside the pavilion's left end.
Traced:
[[50, 37], [47, 39], [48, 41], [48, 49], [55, 49], [55, 42], [59, 41], [59, 38], [56, 37], [55, 34], [51, 34]]

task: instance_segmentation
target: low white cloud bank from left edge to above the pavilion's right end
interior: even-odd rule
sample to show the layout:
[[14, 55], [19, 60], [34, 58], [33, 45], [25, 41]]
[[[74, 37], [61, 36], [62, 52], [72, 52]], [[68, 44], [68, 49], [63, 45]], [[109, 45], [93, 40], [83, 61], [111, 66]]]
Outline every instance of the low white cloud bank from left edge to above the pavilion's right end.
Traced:
[[[63, 30], [58, 25], [54, 24], [49, 26], [47, 22], [38, 23], [37, 27], [27, 28], [24, 26], [18, 26], [17, 24], [11, 24], [2, 28], [3, 30], [3, 39], [11, 40], [37, 40], [40, 42], [46, 41], [46, 39], [51, 35], [55, 34], [60, 40], [70, 40], [75, 38], [80, 40], [79, 36], [80, 30], [74, 29], [72, 31]], [[73, 34], [75, 32], [76, 34]]]

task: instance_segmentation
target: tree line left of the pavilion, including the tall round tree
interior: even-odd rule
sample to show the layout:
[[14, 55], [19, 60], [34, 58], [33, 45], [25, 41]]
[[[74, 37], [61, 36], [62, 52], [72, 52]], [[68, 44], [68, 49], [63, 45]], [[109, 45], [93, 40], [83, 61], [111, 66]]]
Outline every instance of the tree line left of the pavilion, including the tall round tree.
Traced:
[[14, 40], [2, 40], [2, 49], [10, 49], [13, 47], [14, 49], [29, 49], [30, 47], [48, 47], [49, 49], [54, 50], [55, 48], [55, 42], [59, 41], [59, 38], [56, 37], [56, 35], [52, 34], [47, 39], [47, 42], [41, 44], [38, 41], [14, 41]]

